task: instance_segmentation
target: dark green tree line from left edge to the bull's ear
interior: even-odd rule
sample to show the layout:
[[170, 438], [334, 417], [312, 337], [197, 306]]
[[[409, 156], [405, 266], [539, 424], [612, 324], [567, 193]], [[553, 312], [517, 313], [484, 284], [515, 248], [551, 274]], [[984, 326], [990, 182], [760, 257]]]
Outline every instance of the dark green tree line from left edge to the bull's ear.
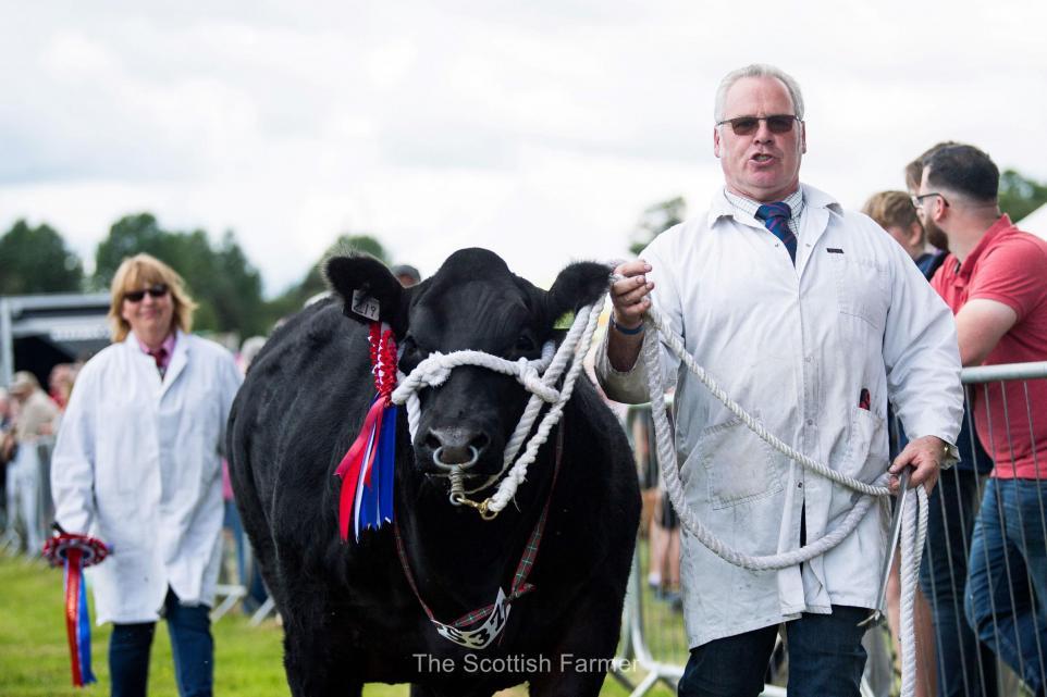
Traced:
[[125, 215], [109, 228], [95, 250], [95, 270], [87, 274], [83, 260], [61, 233], [40, 223], [16, 221], [0, 237], [0, 296], [38, 293], [108, 291], [113, 274], [126, 258], [146, 252], [163, 260], [185, 279], [199, 303], [194, 327], [205, 332], [234, 332], [241, 336], [268, 334], [282, 316], [300, 309], [325, 289], [320, 262], [332, 251], [368, 252], [385, 263], [389, 256], [370, 235], [342, 235], [301, 281], [275, 298], [262, 295], [258, 269], [232, 231], [212, 242], [204, 229], [172, 231], [160, 226], [151, 213]]

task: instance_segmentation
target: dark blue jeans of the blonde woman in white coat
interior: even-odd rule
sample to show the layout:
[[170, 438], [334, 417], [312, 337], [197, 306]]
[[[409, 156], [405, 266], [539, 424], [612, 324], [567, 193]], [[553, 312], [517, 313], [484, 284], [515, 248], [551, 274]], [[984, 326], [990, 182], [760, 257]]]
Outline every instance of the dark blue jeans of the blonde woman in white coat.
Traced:
[[[207, 606], [178, 602], [168, 588], [163, 601], [174, 674], [181, 697], [211, 697], [214, 683], [214, 642]], [[112, 697], [145, 697], [149, 679], [149, 649], [156, 622], [116, 624], [109, 638], [109, 673]]]

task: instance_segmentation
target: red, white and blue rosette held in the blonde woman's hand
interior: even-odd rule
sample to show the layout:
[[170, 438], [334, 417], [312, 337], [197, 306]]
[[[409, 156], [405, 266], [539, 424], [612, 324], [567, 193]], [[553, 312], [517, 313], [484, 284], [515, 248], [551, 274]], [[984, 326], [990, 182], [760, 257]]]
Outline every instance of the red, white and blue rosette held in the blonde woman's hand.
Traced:
[[91, 672], [90, 612], [83, 572], [102, 561], [109, 551], [101, 540], [75, 533], [58, 533], [44, 544], [44, 557], [52, 567], [65, 569], [65, 632], [76, 687], [97, 682]]

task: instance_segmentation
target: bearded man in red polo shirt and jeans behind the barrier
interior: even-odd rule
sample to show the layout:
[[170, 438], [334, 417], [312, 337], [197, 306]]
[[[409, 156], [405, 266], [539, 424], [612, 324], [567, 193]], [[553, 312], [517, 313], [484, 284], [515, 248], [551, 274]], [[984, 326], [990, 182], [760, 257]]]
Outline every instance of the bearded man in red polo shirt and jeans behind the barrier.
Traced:
[[[987, 154], [951, 145], [924, 160], [913, 197], [922, 219], [949, 240], [951, 253], [932, 285], [956, 313], [963, 365], [1047, 360], [1047, 242], [1000, 214], [998, 187]], [[1047, 664], [1047, 381], [991, 384], [973, 401], [996, 468], [971, 545], [968, 620], [1039, 695]]]

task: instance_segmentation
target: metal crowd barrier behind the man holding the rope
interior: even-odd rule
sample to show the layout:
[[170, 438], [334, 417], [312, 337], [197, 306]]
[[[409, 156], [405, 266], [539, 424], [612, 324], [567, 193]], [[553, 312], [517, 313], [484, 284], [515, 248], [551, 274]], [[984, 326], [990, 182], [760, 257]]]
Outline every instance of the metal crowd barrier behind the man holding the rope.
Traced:
[[[1037, 684], [1047, 675], [1047, 362], [964, 369], [962, 382], [963, 462], [943, 472], [931, 497], [921, 568], [933, 618], [925, 634], [934, 636], [936, 665], [921, 663], [917, 679], [926, 695], [1033, 694], [1047, 689]], [[689, 651], [678, 595], [679, 526], [657, 488], [650, 407], [631, 407], [625, 425], [644, 489], [644, 516], [619, 655], [643, 674], [638, 684], [627, 683], [639, 697], [658, 683], [675, 689]], [[895, 427], [895, 453], [903, 445], [898, 437]], [[897, 694], [887, 626], [870, 632], [865, 644], [862, 694]], [[785, 695], [787, 672], [787, 651], [779, 646], [764, 694]]]

